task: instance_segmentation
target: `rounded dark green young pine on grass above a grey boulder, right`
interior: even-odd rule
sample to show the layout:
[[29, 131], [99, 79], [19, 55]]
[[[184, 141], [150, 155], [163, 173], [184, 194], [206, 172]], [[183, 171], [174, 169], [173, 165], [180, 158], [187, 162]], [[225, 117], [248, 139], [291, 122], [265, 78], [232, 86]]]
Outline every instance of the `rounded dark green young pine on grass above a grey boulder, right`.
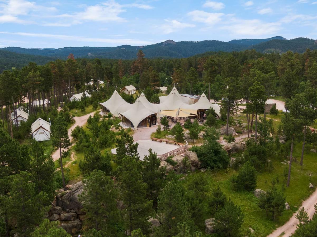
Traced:
[[253, 191], [256, 187], [256, 169], [247, 161], [231, 181], [235, 190]]

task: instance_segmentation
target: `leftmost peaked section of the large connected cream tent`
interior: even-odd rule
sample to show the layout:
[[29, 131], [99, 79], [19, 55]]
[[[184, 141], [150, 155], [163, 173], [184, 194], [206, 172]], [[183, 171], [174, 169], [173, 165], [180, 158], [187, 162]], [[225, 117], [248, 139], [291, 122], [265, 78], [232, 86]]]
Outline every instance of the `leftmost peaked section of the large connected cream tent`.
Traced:
[[122, 99], [116, 90], [107, 101], [99, 104], [102, 106], [102, 113], [110, 112], [114, 116], [119, 116], [118, 113], [126, 111], [131, 106], [130, 103]]

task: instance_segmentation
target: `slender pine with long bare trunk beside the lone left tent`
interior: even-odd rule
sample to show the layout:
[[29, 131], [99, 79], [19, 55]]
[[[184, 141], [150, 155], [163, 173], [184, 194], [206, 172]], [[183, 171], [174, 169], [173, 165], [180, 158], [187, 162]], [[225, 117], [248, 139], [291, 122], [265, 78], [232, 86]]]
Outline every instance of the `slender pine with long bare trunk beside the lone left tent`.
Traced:
[[51, 137], [52, 145], [57, 147], [57, 149], [60, 150], [61, 175], [63, 179], [64, 190], [66, 191], [63, 161], [62, 161], [62, 148], [67, 150], [68, 147], [70, 146], [70, 141], [68, 138], [67, 123], [65, 122], [64, 118], [61, 117], [61, 115], [55, 118], [54, 123], [51, 127], [51, 131], [52, 131], [52, 137]]

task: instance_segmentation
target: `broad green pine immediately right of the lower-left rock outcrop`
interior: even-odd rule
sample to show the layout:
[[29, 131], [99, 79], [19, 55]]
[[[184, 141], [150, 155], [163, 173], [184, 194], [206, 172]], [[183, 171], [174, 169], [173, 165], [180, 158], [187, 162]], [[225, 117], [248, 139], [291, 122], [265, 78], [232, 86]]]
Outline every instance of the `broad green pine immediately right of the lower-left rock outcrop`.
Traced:
[[80, 196], [83, 210], [86, 212], [85, 225], [101, 230], [108, 236], [114, 236], [119, 210], [116, 201], [118, 190], [114, 188], [113, 180], [105, 172], [94, 170], [85, 183]]

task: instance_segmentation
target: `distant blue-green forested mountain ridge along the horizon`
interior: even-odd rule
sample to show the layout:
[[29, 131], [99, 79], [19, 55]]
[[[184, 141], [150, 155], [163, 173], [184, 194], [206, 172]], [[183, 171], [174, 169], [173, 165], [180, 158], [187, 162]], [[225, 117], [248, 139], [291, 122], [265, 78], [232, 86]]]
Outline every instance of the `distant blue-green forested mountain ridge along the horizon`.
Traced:
[[186, 58], [209, 51], [232, 52], [255, 49], [261, 53], [283, 53], [288, 50], [303, 53], [307, 48], [317, 49], [317, 44], [308, 38], [287, 40], [281, 36], [275, 36], [268, 39], [242, 39], [229, 42], [217, 40], [175, 42], [167, 40], [145, 46], [121, 45], [117, 47], [64, 47], [58, 49], [6, 47], [1, 50], [60, 59], [66, 59], [69, 53], [73, 53], [76, 58], [135, 59], [139, 49], [143, 50], [146, 58]]

